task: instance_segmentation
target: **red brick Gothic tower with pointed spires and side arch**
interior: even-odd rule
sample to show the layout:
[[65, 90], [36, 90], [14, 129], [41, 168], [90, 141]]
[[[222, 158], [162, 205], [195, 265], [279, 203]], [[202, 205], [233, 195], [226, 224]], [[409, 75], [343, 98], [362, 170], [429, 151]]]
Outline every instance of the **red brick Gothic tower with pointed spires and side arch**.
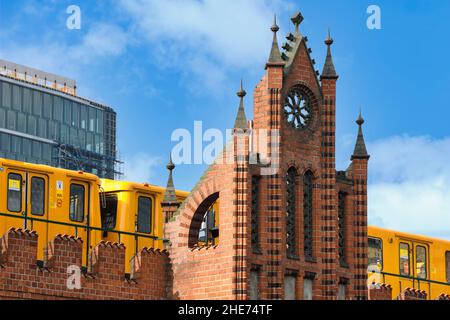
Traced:
[[[281, 53], [275, 19], [254, 121], [246, 121], [241, 85], [233, 139], [166, 225], [174, 298], [367, 298], [362, 121], [352, 166], [337, 172], [333, 40], [328, 34], [319, 80], [302, 21], [292, 18]], [[199, 246], [216, 201], [219, 237]]]

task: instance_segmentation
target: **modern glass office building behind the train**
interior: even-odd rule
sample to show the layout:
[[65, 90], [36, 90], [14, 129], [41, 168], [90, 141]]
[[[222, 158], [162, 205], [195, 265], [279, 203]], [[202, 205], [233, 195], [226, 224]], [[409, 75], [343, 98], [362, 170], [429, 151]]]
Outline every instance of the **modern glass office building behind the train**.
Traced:
[[0, 158], [116, 178], [116, 113], [73, 80], [0, 60]]

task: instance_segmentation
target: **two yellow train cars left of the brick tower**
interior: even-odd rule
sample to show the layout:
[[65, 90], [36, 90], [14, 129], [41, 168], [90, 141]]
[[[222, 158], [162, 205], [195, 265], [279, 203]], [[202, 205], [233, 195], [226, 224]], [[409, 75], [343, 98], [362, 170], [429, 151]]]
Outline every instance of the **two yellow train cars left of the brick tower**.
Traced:
[[[163, 247], [161, 201], [165, 189], [149, 184], [101, 180], [76, 172], [0, 159], [0, 234], [9, 228], [37, 232], [37, 260], [58, 234], [83, 239], [84, 267], [101, 240], [121, 242], [126, 261], [144, 247]], [[176, 192], [180, 201], [187, 192]], [[130, 272], [130, 263], [125, 263]]]

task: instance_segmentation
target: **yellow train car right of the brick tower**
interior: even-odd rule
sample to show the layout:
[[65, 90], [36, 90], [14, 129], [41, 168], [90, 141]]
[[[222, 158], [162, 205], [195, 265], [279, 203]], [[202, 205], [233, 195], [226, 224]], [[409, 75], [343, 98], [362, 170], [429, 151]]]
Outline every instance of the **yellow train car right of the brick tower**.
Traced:
[[368, 282], [425, 290], [429, 299], [450, 294], [450, 241], [369, 227]]

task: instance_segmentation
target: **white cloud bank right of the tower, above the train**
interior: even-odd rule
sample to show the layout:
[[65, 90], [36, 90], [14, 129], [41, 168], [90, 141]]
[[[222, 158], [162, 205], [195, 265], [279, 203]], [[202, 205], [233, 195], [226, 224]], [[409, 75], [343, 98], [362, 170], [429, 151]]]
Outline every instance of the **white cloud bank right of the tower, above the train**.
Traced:
[[450, 239], [450, 138], [369, 144], [369, 222]]

